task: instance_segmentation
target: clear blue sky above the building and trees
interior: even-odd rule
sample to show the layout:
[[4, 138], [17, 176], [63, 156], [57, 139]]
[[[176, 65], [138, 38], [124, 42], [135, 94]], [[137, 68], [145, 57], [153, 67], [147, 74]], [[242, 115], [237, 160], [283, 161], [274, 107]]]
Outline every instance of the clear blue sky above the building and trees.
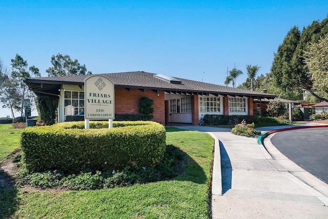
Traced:
[[[147, 71], [224, 85], [227, 67], [270, 72], [293, 27], [328, 15], [328, 1], [1, 1], [0, 58], [18, 53], [42, 76], [53, 54], [89, 71]], [[0, 117], [10, 115], [0, 109]]]

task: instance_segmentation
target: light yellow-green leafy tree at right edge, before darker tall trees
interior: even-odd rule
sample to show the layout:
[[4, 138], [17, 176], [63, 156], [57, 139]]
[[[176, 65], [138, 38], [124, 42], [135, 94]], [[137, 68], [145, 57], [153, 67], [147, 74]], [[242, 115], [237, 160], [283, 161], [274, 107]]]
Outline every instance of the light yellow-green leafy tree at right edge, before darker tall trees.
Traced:
[[[305, 52], [305, 63], [312, 78], [313, 88], [328, 93], [328, 34]], [[321, 98], [320, 100], [322, 100]], [[328, 101], [324, 98], [325, 101]]]

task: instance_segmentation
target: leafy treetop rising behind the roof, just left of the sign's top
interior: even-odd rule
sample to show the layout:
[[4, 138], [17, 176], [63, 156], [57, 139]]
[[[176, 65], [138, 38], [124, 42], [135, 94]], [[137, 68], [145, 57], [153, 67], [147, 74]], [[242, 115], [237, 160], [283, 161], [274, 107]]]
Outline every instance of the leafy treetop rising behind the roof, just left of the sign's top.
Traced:
[[60, 53], [52, 55], [50, 62], [52, 67], [46, 70], [49, 77], [92, 74], [91, 71], [87, 70], [85, 65], [80, 65], [77, 59], [73, 61], [69, 55], [62, 55]]

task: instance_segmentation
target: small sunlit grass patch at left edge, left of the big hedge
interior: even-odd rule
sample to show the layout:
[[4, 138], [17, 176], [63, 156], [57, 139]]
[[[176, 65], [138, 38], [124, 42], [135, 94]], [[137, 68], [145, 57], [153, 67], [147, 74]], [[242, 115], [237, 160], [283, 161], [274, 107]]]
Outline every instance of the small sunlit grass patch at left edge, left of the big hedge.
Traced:
[[0, 162], [19, 147], [22, 129], [13, 129], [12, 124], [0, 125]]

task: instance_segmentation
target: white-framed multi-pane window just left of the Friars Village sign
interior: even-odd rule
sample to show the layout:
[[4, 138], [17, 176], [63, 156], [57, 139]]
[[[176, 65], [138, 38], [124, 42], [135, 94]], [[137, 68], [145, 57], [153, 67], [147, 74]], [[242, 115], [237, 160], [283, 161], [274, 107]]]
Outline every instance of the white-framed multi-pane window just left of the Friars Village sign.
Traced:
[[84, 92], [65, 91], [65, 115], [84, 115]]

